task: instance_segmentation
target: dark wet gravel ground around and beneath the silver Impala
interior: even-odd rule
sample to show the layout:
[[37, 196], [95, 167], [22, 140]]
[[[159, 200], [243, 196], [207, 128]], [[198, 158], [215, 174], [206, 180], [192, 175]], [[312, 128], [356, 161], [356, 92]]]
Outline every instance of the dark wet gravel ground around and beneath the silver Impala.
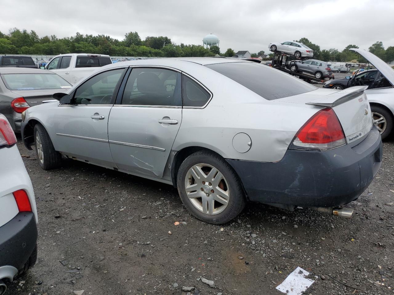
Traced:
[[183, 286], [195, 295], [279, 295], [297, 266], [319, 277], [306, 294], [393, 293], [394, 141], [348, 205], [352, 219], [249, 204], [224, 226], [192, 218], [172, 186], [72, 160], [44, 171], [18, 147], [37, 199], [39, 251], [9, 295], [186, 295]]

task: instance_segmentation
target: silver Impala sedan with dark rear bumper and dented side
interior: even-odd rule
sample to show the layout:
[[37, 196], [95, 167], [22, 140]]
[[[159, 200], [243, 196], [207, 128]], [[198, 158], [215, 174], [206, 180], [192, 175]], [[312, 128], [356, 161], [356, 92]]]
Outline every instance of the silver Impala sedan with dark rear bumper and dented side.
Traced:
[[171, 184], [210, 223], [246, 201], [338, 214], [381, 164], [364, 89], [235, 59], [128, 61], [26, 110], [22, 138], [43, 169], [66, 157]]

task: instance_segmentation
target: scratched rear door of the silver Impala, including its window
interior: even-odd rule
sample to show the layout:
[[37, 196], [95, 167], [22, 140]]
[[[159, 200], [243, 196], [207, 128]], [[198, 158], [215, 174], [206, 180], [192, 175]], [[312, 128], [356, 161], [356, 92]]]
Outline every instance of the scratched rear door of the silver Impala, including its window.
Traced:
[[181, 74], [176, 70], [131, 69], [108, 121], [110, 149], [119, 169], [145, 177], [163, 177], [182, 121], [181, 83]]

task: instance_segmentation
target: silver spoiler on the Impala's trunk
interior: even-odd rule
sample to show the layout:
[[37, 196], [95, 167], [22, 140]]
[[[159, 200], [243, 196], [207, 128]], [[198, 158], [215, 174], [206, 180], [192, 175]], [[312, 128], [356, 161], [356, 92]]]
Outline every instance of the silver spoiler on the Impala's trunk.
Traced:
[[334, 107], [336, 105], [340, 105], [346, 101], [352, 100], [353, 98], [359, 96], [361, 92], [364, 92], [368, 86], [354, 86], [349, 87], [348, 89], [344, 89], [338, 92], [334, 92], [332, 94], [323, 96], [321, 98], [317, 98], [316, 100], [312, 100], [307, 102], [307, 105], [320, 105], [322, 107]]

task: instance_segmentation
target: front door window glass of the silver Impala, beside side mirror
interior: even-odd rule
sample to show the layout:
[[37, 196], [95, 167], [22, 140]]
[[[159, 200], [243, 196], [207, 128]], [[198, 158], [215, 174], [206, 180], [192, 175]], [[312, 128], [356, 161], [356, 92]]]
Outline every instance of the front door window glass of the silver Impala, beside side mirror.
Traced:
[[113, 92], [125, 69], [102, 72], [75, 91], [73, 104], [76, 105], [111, 105]]

